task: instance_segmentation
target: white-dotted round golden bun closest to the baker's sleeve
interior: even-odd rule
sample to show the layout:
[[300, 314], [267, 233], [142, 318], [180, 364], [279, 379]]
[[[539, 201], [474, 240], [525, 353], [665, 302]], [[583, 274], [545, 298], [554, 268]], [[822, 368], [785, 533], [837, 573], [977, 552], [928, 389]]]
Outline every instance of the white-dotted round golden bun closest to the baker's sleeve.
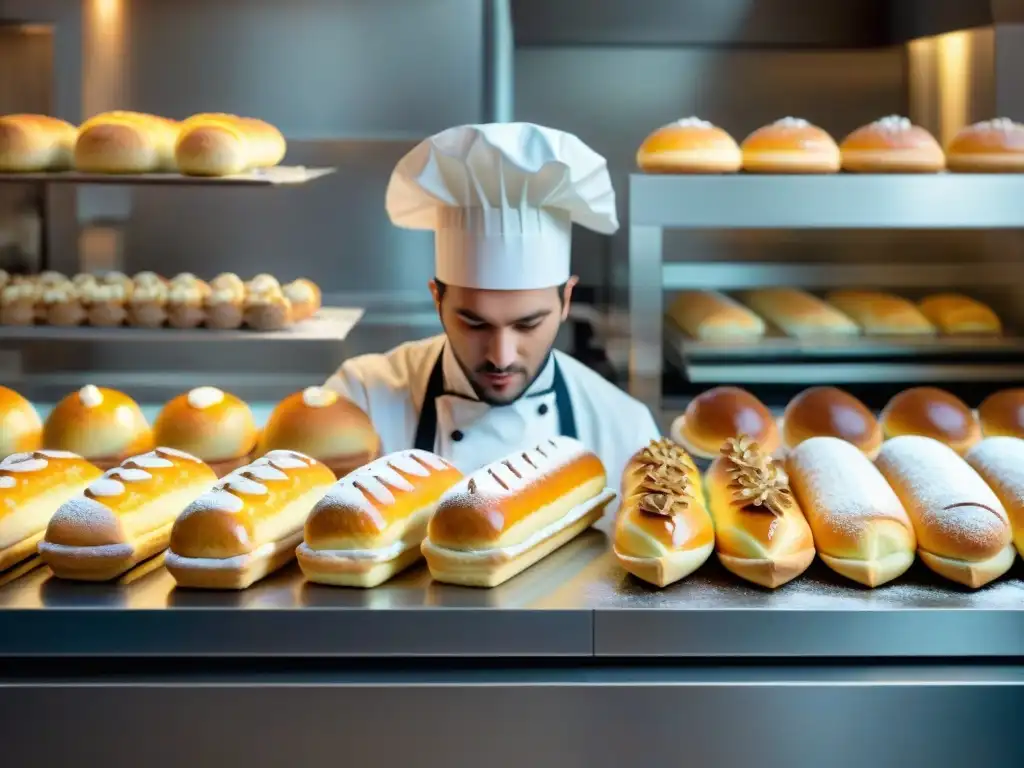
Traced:
[[322, 387], [291, 394], [270, 414], [259, 453], [298, 451], [343, 477], [380, 456], [381, 441], [358, 406]]

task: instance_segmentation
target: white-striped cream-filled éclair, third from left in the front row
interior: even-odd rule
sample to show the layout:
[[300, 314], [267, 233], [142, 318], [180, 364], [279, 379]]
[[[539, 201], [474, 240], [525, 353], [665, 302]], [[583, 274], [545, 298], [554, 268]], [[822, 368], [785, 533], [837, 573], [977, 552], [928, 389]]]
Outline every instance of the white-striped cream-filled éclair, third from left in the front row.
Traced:
[[334, 481], [315, 459], [271, 451], [181, 512], [164, 564], [179, 587], [246, 589], [295, 558], [309, 511]]

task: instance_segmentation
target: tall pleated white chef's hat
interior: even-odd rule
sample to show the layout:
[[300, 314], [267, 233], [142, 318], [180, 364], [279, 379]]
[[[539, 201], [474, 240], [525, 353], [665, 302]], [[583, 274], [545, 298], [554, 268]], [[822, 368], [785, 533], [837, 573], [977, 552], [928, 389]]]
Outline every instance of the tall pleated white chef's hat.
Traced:
[[575, 136], [528, 123], [450, 128], [412, 150], [387, 188], [391, 221], [435, 232], [435, 275], [524, 290], [568, 280], [572, 222], [618, 228], [607, 163]]

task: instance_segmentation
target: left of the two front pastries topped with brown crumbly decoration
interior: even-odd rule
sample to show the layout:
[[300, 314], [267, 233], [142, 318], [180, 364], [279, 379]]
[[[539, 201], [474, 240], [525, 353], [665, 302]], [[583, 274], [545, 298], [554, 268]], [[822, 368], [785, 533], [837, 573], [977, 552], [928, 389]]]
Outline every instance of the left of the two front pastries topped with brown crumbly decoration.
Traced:
[[700, 471], [671, 440], [651, 440], [623, 472], [612, 548], [630, 573], [667, 587], [699, 568], [715, 549]]

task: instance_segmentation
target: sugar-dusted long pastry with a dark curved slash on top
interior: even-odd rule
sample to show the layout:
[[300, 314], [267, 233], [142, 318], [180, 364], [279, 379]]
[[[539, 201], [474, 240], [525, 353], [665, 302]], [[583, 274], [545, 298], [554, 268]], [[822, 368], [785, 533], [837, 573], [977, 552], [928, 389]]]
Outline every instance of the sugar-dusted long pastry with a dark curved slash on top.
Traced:
[[913, 523], [918, 554], [928, 567], [973, 588], [1010, 569], [1016, 556], [1010, 518], [952, 449], [931, 437], [894, 437], [877, 464]]

